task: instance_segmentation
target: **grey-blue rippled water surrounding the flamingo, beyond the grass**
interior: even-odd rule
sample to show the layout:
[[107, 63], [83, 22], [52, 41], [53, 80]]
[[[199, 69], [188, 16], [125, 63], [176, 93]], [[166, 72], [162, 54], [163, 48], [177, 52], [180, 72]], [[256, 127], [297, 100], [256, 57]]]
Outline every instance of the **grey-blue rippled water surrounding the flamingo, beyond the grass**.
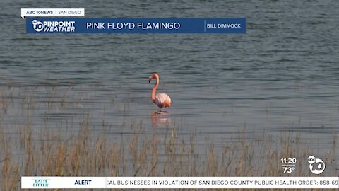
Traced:
[[[34, 128], [58, 127], [90, 114], [98, 129], [146, 132], [179, 127], [198, 141], [242, 131], [295, 131], [327, 148], [339, 132], [338, 1], [1, 1], [0, 85], [13, 102], [30, 95]], [[88, 18], [245, 17], [244, 35], [26, 35], [20, 8], [85, 8]], [[167, 115], [153, 115], [153, 83], [169, 94]], [[11, 89], [11, 88], [9, 88]], [[25, 95], [25, 96], [24, 96]], [[48, 110], [46, 100], [66, 110]], [[59, 103], [58, 103], [59, 104]], [[24, 122], [18, 105], [3, 113], [8, 128]], [[61, 126], [61, 125], [60, 125]], [[128, 134], [127, 134], [128, 136]], [[250, 136], [250, 135], [249, 135]]]

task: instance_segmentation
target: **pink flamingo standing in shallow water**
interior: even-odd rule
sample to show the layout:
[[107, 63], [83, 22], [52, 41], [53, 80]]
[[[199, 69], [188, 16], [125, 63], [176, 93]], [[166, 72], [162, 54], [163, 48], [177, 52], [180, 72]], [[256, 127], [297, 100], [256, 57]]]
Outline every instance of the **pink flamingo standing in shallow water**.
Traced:
[[171, 98], [166, 93], [157, 93], [155, 96], [155, 91], [157, 91], [157, 86], [159, 85], [159, 75], [157, 73], [153, 73], [152, 76], [148, 78], [148, 83], [152, 79], [156, 79], [155, 85], [152, 90], [152, 101], [159, 108], [159, 112], [161, 112], [161, 108], [170, 108], [171, 107]]

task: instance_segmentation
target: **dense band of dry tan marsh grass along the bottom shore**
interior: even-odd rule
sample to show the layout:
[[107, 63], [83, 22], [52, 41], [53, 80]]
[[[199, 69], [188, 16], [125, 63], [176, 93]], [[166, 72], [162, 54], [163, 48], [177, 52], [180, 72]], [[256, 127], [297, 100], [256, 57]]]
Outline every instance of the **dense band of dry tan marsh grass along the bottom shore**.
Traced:
[[[91, 136], [88, 117], [83, 119], [78, 134], [70, 134], [66, 140], [61, 139], [60, 134], [47, 133], [44, 140], [32, 141], [30, 125], [20, 130], [20, 146], [25, 151], [22, 158], [11, 154], [11, 137], [0, 134], [1, 190], [20, 190], [18, 180], [22, 175], [281, 176], [284, 174], [280, 158], [307, 158], [310, 150], [299, 149], [297, 135], [282, 134], [279, 144], [283, 146], [275, 146], [272, 137], [267, 141], [240, 137], [234, 144], [223, 144], [221, 152], [208, 140], [206, 151], [199, 153], [195, 133], [186, 143], [177, 138], [175, 128], [162, 141], [157, 139], [157, 134], [149, 137], [138, 132], [128, 141], [109, 140], [109, 134]], [[333, 137], [325, 163], [333, 160], [337, 144], [338, 137]], [[291, 175], [309, 175], [309, 170], [297, 168]]]

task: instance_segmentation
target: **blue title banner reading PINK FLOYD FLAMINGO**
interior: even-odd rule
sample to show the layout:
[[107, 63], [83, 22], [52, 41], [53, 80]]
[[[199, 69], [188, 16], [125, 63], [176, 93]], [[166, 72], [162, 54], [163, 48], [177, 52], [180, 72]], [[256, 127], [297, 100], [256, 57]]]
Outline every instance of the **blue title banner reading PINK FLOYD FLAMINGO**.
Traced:
[[246, 18], [27, 18], [26, 33], [246, 33]]

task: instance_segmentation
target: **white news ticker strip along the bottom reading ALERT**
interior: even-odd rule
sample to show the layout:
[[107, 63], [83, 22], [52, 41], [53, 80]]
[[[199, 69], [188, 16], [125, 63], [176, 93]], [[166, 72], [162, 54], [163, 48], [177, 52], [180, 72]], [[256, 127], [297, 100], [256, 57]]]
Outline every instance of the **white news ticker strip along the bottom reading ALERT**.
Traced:
[[21, 188], [339, 188], [339, 177], [21, 177]]

